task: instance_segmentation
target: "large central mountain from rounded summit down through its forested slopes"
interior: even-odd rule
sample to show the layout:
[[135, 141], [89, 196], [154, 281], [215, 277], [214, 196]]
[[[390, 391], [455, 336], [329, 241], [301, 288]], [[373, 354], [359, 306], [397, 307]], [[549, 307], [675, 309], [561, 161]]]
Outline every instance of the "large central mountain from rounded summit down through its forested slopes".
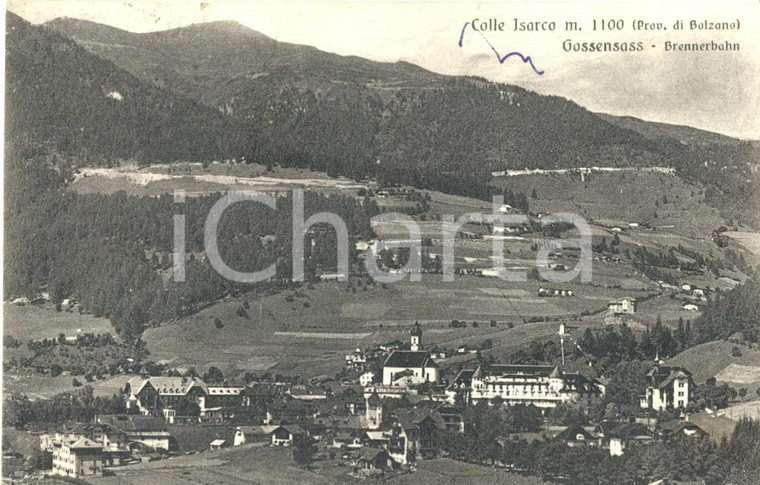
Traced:
[[73, 19], [45, 27], [245, 120], [267, 140], [257, 156], [277, 163], [445, 189], [463, 171], [482, 184], [505, 168], [663, 158], [659, 142], [563, 98], [277, 42], [234, 22], [141, 34]]

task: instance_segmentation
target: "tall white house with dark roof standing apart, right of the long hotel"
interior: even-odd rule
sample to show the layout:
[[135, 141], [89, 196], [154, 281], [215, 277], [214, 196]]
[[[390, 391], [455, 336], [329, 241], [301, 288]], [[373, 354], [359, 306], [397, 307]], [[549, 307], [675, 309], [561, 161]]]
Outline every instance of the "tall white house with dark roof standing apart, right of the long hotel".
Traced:
[[641, 407], [663, 411], [668, 408], [682, 408], [689, 404], [694, 379], [682, 367], [661, 366], [656, 363], [646, 377], [646, 395], [641, 398]]

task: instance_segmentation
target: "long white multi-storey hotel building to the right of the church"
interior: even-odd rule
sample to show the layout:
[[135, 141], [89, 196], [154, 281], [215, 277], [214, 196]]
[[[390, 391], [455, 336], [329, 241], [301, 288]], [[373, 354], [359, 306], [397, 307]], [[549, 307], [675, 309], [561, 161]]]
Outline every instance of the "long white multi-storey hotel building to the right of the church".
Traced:
[[579, 373], [551, 365], [481, 363], [472, 374], [469, 397], [473, 404], [496, 397], [504, 404], [552, 408], [581, 397], [604, 394], [604, 387]]

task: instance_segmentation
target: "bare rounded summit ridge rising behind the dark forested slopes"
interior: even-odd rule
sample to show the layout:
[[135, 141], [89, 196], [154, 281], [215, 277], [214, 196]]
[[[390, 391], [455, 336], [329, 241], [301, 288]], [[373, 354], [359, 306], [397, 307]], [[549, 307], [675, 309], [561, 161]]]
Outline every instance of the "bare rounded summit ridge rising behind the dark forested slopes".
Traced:
[[426, 84], [439, 77], [408, 63], [377, 63], [277, 42], [231, 21], [143, 34], [70, 18], [44, 25], [138, 77], [219, 107], [261, 77], [289, 83], [316, 73], [351, 83]]

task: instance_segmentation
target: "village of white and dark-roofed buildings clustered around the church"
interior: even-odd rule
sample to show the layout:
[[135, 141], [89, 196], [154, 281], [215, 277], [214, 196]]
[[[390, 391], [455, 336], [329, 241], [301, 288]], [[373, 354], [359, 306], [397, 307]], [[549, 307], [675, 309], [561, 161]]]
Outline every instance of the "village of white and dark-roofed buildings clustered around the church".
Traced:
[[[370, 369], [378, 369], [377, 374]], [[706, 435], [685, 412], [694, 387], [691, 374], [662, 361], [653, 363], [646, 388], [637, 390], [641, 402], [635, 417], [585, 426], [551, 425], [547, 417], [558, 406], [591, 405], [604, 396], [604, 382], [561, 366], [483, 360], [456, 375], [442, 375], [425, 350], [419, 324], [412, 326], [409, 342], [356, 349], [346, 356], [346, 371], [352, 379], [308, 385], [134, 377], [121, 396], [125, 414], [98, 415], [92, 422], [40, 434], [40, 448], [51, 456], [47, 473], [118, 475], [141, 461], [254, 445], [291, 447], [294, 455], [306, 449], [301, 452], [305, 463], [329, 456], [340, 460], [347, 474], [386, 476], [447, 455], [442, 438], [464, 433], [466, 410], [479, 403], [522, 409], [534, 432], [568, 447], [598, 447], [611, 456], [631, 446]], [[521, 426], [517, 422], [515, 429]], [[184, 449], [188, 433], [196, 435], [192, 450]]]

